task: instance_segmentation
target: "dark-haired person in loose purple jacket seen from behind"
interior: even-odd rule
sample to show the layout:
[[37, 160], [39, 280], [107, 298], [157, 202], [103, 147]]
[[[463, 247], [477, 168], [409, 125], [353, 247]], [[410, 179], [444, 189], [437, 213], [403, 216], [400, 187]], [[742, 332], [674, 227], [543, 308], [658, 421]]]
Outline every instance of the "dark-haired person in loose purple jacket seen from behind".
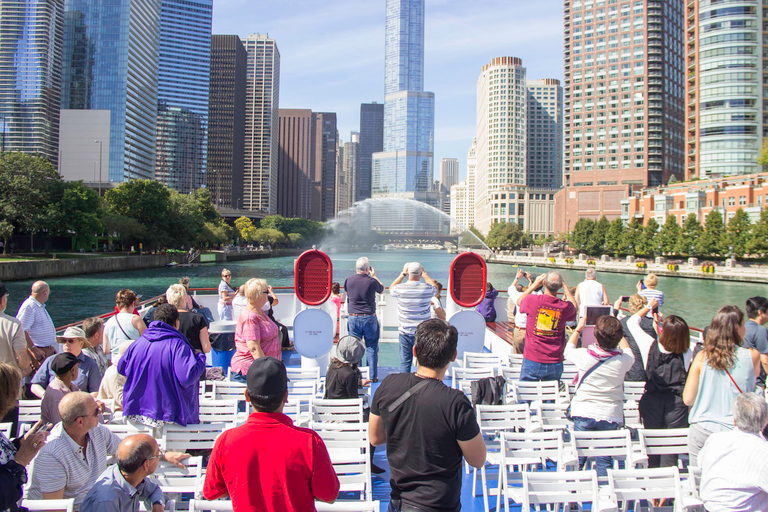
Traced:
[[155, 321], [134, 341], [117, 364], [125, 376], [123, 415], [151, 427], [200, 423], [200, 376], [205, 354], [195, 350], [177, 328], [171, 304], [155, 310]]

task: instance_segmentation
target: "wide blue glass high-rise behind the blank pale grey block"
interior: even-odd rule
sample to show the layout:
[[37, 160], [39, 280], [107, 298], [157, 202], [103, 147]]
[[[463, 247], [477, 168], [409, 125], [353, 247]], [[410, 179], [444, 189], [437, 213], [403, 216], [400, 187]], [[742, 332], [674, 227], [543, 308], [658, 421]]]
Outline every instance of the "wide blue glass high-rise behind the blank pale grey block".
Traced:
[[61, 108], [111, 112], [109, 181], [153, 179], [160, 0], [65, 0], [64, 9]]

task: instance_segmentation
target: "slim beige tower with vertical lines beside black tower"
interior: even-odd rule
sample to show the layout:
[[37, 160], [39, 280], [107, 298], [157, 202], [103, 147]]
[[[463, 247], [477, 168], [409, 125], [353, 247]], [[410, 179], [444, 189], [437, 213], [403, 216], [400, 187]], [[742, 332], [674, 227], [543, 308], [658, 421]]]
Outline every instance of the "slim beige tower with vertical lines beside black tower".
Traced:
[[243, 41], [248, 52], [245, 94], [243, 208], [277, 211], [277, 153], [280, 107], [280, 52], [268, 35]]

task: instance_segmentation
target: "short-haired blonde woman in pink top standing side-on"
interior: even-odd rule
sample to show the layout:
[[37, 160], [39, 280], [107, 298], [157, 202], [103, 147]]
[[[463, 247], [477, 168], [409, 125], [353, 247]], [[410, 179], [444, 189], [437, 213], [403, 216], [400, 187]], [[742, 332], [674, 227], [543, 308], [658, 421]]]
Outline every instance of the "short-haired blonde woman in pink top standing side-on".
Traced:
[[248, 305], [237, 317], [235, 353], [232, 356], [232, 378], [245, 382], [248, 368], [254, 360], [265, 356], [280, 359], [282, 351], [277, 325], [264, 312], [267, 303], [267, 282], [249, 279], [245, 283]]

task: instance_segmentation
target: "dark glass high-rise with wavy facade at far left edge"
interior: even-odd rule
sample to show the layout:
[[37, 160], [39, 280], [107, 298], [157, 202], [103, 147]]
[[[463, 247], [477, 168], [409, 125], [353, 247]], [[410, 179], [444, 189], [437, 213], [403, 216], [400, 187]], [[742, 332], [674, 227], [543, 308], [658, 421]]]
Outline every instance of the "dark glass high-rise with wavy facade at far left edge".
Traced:
[[0, 2], [0, 151], [58, 163], [64, 0]]

